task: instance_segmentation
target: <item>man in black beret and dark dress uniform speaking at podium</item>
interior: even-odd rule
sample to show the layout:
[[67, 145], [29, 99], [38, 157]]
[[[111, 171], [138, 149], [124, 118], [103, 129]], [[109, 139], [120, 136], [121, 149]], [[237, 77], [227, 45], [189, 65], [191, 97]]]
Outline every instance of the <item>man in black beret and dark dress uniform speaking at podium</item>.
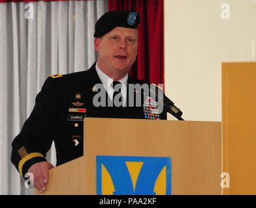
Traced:
[[[131, 99], [127, 93], [129, 84], [140, 82], [128, 73], [136, 60], [139, 23], [140, 17], [135, 11], [106, 12], [95, 24], [97, 62], [87, 71], [51, 75], [46, 79], [31, 115], [12, 142], [11, 157], [23, 177], [27, 172], [33, 174], [34, 187], [39, 192], [46, 190], [48, 170], [54, 168], [45, 159], [53, 141], [57, 165], [82, 156], [85, 116], [166, 119], [166, 112], [143, 105], [125, 105]], [[104, 86], [108, 104], [115, 96], [114, 85], [121, 85], [122, 105], [95, 105], [93, 98], [99, 93], [96, 84]]]

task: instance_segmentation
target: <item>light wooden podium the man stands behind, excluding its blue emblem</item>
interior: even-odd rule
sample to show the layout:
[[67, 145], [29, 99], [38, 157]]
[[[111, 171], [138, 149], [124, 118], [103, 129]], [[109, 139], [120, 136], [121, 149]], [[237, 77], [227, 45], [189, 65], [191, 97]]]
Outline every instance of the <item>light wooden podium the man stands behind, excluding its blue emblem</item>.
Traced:
[[85, 118], [84, 156], [50, 170], [43, 194], [97, 194], [99, 155], [167, 157], [170, 194], [221, 194], [220, 122]]

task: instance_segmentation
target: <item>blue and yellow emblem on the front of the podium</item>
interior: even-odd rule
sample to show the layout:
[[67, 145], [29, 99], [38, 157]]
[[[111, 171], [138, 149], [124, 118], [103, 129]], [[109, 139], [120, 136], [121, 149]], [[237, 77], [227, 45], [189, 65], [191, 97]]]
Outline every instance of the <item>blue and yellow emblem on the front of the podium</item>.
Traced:
[[170, 157], [97, 156], [98, 195], [170, 195]]

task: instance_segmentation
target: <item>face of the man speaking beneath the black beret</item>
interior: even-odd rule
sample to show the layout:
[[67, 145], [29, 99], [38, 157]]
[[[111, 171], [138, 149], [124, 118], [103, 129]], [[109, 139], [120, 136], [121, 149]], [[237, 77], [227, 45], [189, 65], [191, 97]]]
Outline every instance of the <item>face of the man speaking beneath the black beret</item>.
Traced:
[[98, 66], [108, 76], [126, 74], [134, 64], [138, 47], [138, 31], [115, 27], [101, 38], [95, 38], [99, 52]]

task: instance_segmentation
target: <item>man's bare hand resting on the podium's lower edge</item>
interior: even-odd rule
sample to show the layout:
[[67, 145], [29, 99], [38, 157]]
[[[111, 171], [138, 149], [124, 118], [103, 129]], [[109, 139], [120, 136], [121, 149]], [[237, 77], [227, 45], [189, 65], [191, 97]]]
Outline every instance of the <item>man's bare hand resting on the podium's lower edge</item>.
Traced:
[[27, 172], [31, 172], [34, 176], [34, 187], [42, 193], [46, 190], [46, 183], [48, 181], [48, 170], [54, 168], [54, 166], [50, 162], [37, 162], [33, 164], [27, 170]]

